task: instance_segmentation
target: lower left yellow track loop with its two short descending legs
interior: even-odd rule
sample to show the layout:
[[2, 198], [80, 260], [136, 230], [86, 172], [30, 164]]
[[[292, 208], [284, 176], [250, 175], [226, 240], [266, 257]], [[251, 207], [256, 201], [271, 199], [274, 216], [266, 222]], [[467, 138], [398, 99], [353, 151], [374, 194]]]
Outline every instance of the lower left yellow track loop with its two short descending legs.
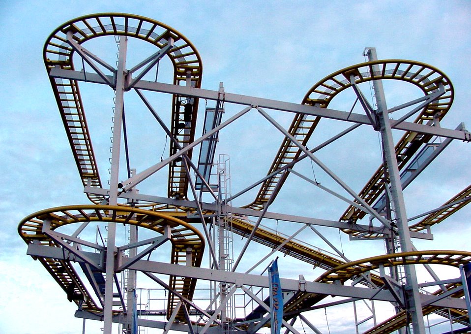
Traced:
[[[122, 223], [135, 225], [153, 232], [163, 234], [166, 225], [171, 227], [172, 255], [171, 263], [186, 263], [187, 248], [191, 248], [191, 265], [200, 267], [203, 259], [205, 241], [203, 235], [190, 224], [172, 216], [172, 212], [154, 212], [129, 206], [110, 205], [71, 205], [38, 211], [24, 218], [18, 232], [26, 243], [38, 242], [41, 245], [60, 247], [49, 236], [42, 232], [43, 221], [51, 220], [51, 230], [83, 222]], [[81, 278], [70, 261], [38, 258], [48, 272], [65, 291], [73, 288], [73, 301], [79, 304], [84, 300], [83, 308], [90, 312], [100, 313], [102, 309], [93, 301]], [[181, 295], [192, 299], [196, 279], [170, 276], [170, 286]], [[168, 301], [168, 314], [172, 313], [178, 301], [171, 294]], [[120, 311], [116, 310], [115, 313]], [[184, 321], [183, 314], [179, 315]]]

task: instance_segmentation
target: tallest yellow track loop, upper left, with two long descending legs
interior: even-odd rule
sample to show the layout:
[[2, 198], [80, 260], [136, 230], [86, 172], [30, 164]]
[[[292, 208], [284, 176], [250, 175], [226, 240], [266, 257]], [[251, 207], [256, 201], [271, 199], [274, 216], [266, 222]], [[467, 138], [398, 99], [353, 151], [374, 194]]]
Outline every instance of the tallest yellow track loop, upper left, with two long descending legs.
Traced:
[[[203, 65], [196, 48], [188, 39], [163, 23], [131, 14], [87, 15], [60, 26], [44, 45], [44, 63], [48, 71], [53, 67], [74, 69], [74, 50], [66, 39], [68, 31], [73, 32], [73, 38], [78, 44], [95, 37], [124, 35], [147, 41], [158, 48], [165, 46], [167, 38], [171, 36], [174, 39], [174, 47], [167, 55], [174, 67], [173, 83], [189, 84], [198, 88], [201, 86]], [[78, 83], [75, 80], [52, 77], [50, 80], [82, 182], [84, 185], [101, 188]], [[185, 105], [179, 96], [174, 95], [171, 131], [181, 146], [186, 146], [194, 140], [198, 99], [193, 99], [192, 104], [187, 106], [186, 113], [180, 108], [184, 109]], [[184, 127], [180, 123], [184, 123]], [[170, 155], [176, 150], [177, 147], [171, 141]], [[192, 151], [188, 151], [190, 158], [191, 154]], [[186, 198], [187, 190], [188, 182], [182, 163], [172, 162], [169, 171], [169, 196], [183, 199]], [[88, 195], [88, 198], [95, 204], [104, 200], [102, 196], [97, 195]]]

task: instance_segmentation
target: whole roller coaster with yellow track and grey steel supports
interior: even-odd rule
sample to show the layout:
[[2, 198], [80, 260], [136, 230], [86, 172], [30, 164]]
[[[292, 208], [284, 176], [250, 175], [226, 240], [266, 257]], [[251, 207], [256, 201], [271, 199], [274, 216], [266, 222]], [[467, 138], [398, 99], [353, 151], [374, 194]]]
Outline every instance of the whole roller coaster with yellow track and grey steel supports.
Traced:
[[[117, 55], [116, 67], [88, 49], [88, 45], [97, 45], [92, 40], [110, 38], [114, 38], [117, 49], [106, 52]], [[128, 40], [145, 42], [154, 52], [131, 69], [126, 69]], [[314, 267], [313, 272], [322, 271], [316, 279], [305, 279], [302, 274], [284, 278], [281, 272], [283, 327], [287, 333], [301, 333], [301, 326], [308, 327], [310, 333], [322, 333], [310, 311], [356, 301], [389, 302], [394, 314], [380, 323], [376, 314], [368, 318], [374, 320], [357, 321], [355, 309], [351, 332], [359, 333], [363, 326], [364, 333], [411, 333], [411, 329], [425, 333], [424, 316], [429, 314], [471, 328], [464, 298], [467, 286], [463, 284], [463, 270], [459, 270], [471, 262], [471, 252], [421, 251], [411, 243], [411, 238], [432, 239], [434, 225], [471, 201], [471, 186], [439, 208], [412, 219], [405, 215], [402, 197], [403, 189], [450, 141], [471, 140], [463, 124], [454, 130], [440, 125], [450, 111], [454, 91], [439, 69], [410, 60], [378, 60], [375, 50], [367, 48], [368, 61], [326, 76], [312, 86], [300, 104], [231, 94], [222, 84], [212, 91], [201, 88], [202, 60], [185, 36], [158, 21], [120, 13], [93, 14], [64, 23], [48, 37], [43, 56], [80, 179], [92, 204], [32, 213], [20, 222], [18, 232], [28, 244], [28, 255], [46, 268], [64, 298], [77, 304], [76, 317], [104, 321], [105, 333], [112, 332], [112, 323], [129, 334], [140, 333], [145, 327], [163, 333], [266, 333], [271, 327], [269, 280], [266, 267], [263, 270], [260, 266], [282, 254], [294, 263]], [[171, 83], [157, 80], [159, 64], [166, 56], [173, 68]], [[156, 73], [154, 80], [149, 80], [151, 71]], [[114, 90], [108, 188], [100, 177], [98, 166], [103, 164], [92, 146], [84, 108], [87, 101], [82, 100], [79, 82]], [[422, 96], [387, 108], [383, 82], [412, 84]], [[362, 92], [365, 83], [373, 85], [370, 89], [374, 89], [376, 107]], [[170, 140], [169, 156], [160, 161], [147, 157], [148, 167], [139, 172], [131, 168], [132, 147], [125, 115], [129, 119], [132, 114], [125, 114], [123, 100], [124, 94], [133, 92]], [[341, 99], [346, 92], [354, 97], [350, 112], [329, 109], [334, 98]], [[150, 93], [171, 95], [170, 124], [145, 96]], [[201, 126], [197, 123], [203, 109], [200, 99], [206, 100], [203, 132], [195, 137], [197, 126]], [[208, 107], [208, 101], [214, 107]], [[243, 105], [244, 109], [225, 119], [228, 105]], [[251, 110], [271, 123], [283, 140], [266, 175], [233, 195], [228, 186], [229, 167], [215, 160], [216, 145], [220, 132], [247, 117]], [[294, 114], [288, 129], [272, 111]], [[388, 115], [400, 116], [393, 119]], [[414, 120], [409, 121], [412, 117]], [[351, 126], [308, 149], [309, 140], [327, 120]], [[383, 164], [356, 192], [315, 153], [360, 126], [381, 134]], [[403, 134], [395, 143], [391, 129]], [[192, 159], [194, 149], [199, 153], [197, 162]], [[300, 173], [296, 167], [303, 160], [322, 169], [348, 195]], [[167, 166], [166, 196], [137, 190], [141, 182], [145, 184]], [[346, 202], [347, 209], [333, 220], [268, 211], [290, 174]], [[259, 191], [250, 203], [232, 204], [257, 187]], [[369, 222], [364, 224], [363, 219], [368, 217]], [[408, 223], [418, 218], [421, 220]], [[284, 228], [281, 233], [263, 226], [262, 221], [290, 222], [300, 229], [287, 232], [289, 229]], [[337, 229], [352, 240], [384, 240], [387, 254], [351, 261], [316, 226]], [[116, 229], [121, 227], [129, 237], [116, 246]], [[90, 230], [95, 231], [94, 241]], [[103, 238], [105, 230], [108, 235]], [[318, 234], [333, 251], [302, 241], [306, 231]], [[235, 241], [236, 234], [242, 241]], [[244, 262], [249, 247], [267, 254]], [[170, 260], [163, 253], [170, 253]], [[453, 271], [456, 278], [441, 280], [433, 271], [436, 265], [458, 268]], [[418, 282], [418, 266], [427, 269], [433, 283]], [[261, 273], [251, 273], [255, 269]], [[142, 293], [137, 274], [161, 289], [165, 309], [137, 302], [137, 294]], [[205, 289], [208, 285], [210, 288]], [[237, 296], [243, 296], [244, 301]], [[331, 296], [335, 297], [333, 301]]]

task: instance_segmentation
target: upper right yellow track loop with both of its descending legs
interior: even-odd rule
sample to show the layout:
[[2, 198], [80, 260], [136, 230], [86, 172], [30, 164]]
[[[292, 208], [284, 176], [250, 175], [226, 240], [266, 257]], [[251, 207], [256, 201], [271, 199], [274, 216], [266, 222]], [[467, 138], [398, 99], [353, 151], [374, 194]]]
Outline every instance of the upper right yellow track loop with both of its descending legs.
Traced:
[[[373, 71], [373, 66], [378, 66], [379, 71]], [[422, 90], [424, 95], [436, 92], [440, 85], [443, 85], [445, 94], [429, 103], [423, 108], [415, 119], [415, 123], [431, 122], [434, 115], [438, 113], [438, 118], [442, 117], [449, 110], [453, 102], [453, 86], [444, 73], [427, 64], [409, 61], [409, 60], [380, 60], [375, 62], [361, 63], [351, 67], [343, 68], [316, 83], [304, 97], [302, 104], [317, 105], [327, 108], [331, 100], [340, 92], [352, 87], [350, 75], [354, 75], [355, 84], [372, 80], [393, 79], [410, 82]], [[310, 115], [296, 114], [290, 126], [289, 132], [303, 145], [307, 144], [310, 136], [313, 134], [320, 117]], [[413, 154], [425, 143], [431, 136], [407, 132], [396, 145], [396, 156], [399, 161], [399, 168], [406, 166]], [[268, 174], [274, 172], [280, 167], [289, 164], [298, 158], [301, 151], [298, 150], [288, 138], [285, 138], [278, 150], [275, 160], [270, 167]], [[288, 172], [279, 173], [265, 181], [256, 197], [247, 207], [253, 209], [262, 209], [265, 202], [272, 196], [274, 188], [278, 182], [284, 182]], [[367, 185], [360, 192], [360, 196], [368, 203], [372, 204], [384, 191], [383, 186], [384, 167], [380, 166]], [[277, 194], [273, 194], [276, 196]], [[353, 206], [350, 206], [342, 215], [341, 220], [355, 222], [361, 219], [365, 213]], [[353, 231], [346, 231], [350, 234], [358, 234]], [[377, 236], [375, 234], [366, 236]]]

